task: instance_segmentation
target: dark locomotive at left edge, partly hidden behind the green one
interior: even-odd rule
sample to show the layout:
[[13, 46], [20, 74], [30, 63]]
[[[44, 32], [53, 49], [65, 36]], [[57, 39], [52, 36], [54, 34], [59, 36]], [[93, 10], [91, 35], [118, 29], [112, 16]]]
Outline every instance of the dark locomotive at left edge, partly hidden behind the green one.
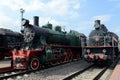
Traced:
[[9, 29], [0, 28], [0, 60], [12, 56], [11, 50], [20, 48], [22, 35]]

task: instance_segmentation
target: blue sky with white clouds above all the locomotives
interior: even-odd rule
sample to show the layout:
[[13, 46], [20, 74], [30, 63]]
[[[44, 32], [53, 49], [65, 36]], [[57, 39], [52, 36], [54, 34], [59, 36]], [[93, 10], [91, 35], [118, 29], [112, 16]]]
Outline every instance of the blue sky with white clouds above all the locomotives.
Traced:
[[21, 13], [33, 24], [39, 16], [39, 25], [60, 25], [67, 32], [76, 30], [86, 36], [94, 30], [99, 19], [109, 31], [120, 37], [120, 0], [0, 0], [0, 28], [21, 29]]

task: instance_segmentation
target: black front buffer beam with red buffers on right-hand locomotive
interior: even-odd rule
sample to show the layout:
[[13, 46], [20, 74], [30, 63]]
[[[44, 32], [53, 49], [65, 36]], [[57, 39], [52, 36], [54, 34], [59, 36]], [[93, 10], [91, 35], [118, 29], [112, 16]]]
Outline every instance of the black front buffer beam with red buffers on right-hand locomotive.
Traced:
[[111, 63], [117, 57], [118, 49], [116, 47], [84, 47], [83, 58], [92, 63]]

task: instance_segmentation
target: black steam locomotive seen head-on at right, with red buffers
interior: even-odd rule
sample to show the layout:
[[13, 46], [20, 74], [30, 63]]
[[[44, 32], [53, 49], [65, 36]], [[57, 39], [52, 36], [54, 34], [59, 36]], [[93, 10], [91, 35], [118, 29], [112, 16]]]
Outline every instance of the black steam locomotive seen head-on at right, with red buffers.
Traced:
[[95, 30], [89, 34], [88, 44], [83, 47], [83, 57], [88, 62], [106, 64], [115, 61], [119, 55], [118, 36], [109, 32], [100, 20], [95, 21]]

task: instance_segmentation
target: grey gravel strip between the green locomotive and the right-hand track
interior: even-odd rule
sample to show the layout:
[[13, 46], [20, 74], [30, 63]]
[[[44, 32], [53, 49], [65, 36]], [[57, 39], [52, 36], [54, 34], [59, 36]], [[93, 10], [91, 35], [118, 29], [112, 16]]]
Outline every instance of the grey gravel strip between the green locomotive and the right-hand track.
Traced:
[[22, 77], [23, 80], [63, 80], [66, 76], [75, 73], [85, 67], [90, 66], [85, 61], [77, 61], [68, 63], [65, 65], [60, 65], [57, 67], [51, 67], [46, 70], [36, 71], [31, 73], [29, 76]]

